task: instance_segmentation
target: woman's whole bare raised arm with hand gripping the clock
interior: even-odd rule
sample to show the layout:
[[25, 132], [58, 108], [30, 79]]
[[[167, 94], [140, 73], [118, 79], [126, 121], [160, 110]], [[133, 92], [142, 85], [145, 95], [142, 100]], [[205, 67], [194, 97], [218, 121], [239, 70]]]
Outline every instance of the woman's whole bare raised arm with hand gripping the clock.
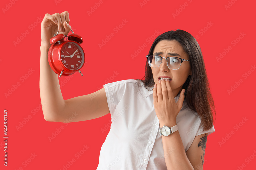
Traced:
[[40, 46], [39, 88], [45, 120], [64, 122], [72, 117], [71, 122], [78, 122], [95, 119], [108, 114], [109, 108], [104, 88], [92, 94], [78, 96], [68, 100], [63, 99], [58, 75], [51, 69], [48, 62], [48, 51], [51, 46], [50, 38], [58, 30], [64, 35], [67, 35], [71, 30], [69, 13], [67, 11], [61, 14], [46, 14], [41, 23], [42, 41]]

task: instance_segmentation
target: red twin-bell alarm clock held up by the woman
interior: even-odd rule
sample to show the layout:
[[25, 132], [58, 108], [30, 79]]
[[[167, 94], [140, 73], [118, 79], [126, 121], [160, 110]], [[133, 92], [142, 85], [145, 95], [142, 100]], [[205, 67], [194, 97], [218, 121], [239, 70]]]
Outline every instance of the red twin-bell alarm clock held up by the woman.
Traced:
[[[82, 37], [74, 34], [73, 31], [69, 36], [58, 33], [59, 30], [57, 35], [54, 34], [54, 37], [50, 39], [50, 43], [53, 43], [48, 52], [51, 69], [59, 76], [68, 76], [77, 71], [81, 73], [80, 69], [85, 59], [83, 48], [79, 45], [83, 42]], [[64, 41], [65, 37], [66, 41]], [[81, 75], [83, 76], [82, 73]]]

